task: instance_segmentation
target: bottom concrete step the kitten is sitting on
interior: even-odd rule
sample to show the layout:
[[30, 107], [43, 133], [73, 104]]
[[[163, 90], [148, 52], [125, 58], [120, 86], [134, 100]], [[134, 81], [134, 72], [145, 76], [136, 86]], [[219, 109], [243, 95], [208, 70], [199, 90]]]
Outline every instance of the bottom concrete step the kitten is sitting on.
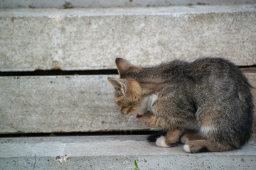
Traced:
[[0, 169], [247, 169], [256, 167], [256, 137], [231, 152], [188, 154], [156, 147], [146, 136], [0, 139]]

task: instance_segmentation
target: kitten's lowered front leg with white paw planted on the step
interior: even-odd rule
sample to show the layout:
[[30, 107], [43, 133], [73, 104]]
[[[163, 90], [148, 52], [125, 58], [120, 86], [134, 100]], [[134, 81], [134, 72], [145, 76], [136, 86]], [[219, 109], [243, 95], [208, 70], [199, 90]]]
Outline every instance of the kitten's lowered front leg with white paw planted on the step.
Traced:
[[174, 147], [179, 141], [182, 134], [180, 128], [169, 129], [165, 136], [161, 136], [156, 140], [156, 145], [159, 147]]

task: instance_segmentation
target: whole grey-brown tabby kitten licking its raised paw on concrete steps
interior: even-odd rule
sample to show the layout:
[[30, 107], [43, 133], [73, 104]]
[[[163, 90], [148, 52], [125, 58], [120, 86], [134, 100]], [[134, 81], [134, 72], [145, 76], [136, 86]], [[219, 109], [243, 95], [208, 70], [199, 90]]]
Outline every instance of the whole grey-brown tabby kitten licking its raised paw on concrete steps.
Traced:
[[233, 63], [202, 58], [142, 68], [121, 58], [115, 62], [120, 79], [108, 79], [115, 103], [124, 115], [167, 130], [157, 146], [181, 141], [186, 152], [215, 152], [238, 149], [250, 139], [251, 86]]

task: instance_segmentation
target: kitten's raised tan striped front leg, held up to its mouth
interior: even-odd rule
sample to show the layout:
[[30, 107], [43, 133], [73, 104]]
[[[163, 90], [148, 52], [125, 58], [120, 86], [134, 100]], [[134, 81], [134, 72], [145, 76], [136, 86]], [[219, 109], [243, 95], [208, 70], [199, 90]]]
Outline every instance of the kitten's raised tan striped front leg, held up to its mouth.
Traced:
[[170, 128], [170, 124], [164, 117], [157, 117], [151, 112], [145, 113], [142, 118], [142, 122], [151, 128]]

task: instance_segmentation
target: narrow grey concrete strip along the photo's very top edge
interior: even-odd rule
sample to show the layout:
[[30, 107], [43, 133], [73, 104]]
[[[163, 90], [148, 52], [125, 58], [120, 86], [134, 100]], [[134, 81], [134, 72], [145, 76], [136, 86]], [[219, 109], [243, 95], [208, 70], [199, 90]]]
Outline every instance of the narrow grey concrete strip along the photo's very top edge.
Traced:
[[255, 4], [255, 0], [0, 0], [0, 8], [110, 8], [180, 5]]

